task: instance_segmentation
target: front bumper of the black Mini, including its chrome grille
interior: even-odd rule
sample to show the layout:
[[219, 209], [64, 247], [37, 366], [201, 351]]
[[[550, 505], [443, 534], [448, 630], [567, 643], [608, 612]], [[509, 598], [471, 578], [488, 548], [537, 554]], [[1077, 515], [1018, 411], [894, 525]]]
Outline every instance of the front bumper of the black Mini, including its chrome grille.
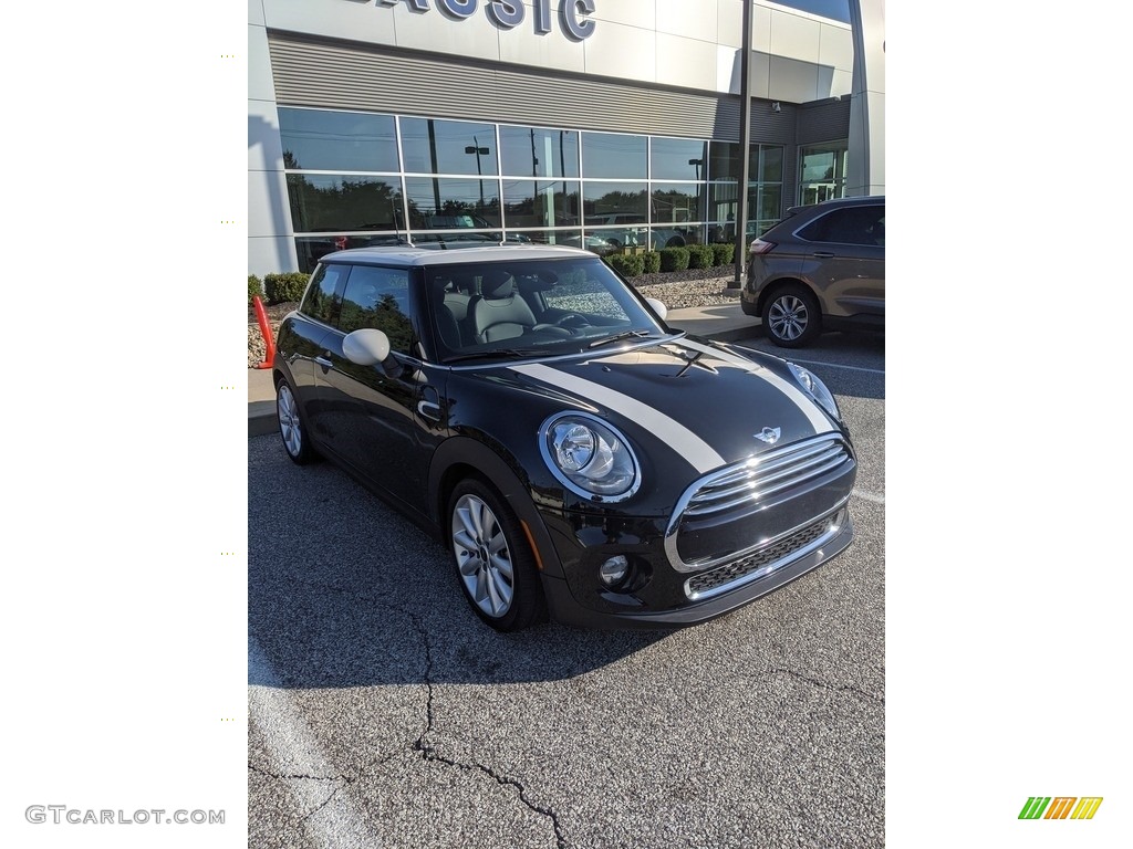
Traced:
[[[561, 565], [544, 580], [551, 612], [587, 627], [680, 626], [721, 616], [850, 544], [846, 504], [855, 477], [849, 441], [824, 434], [701, 477], [667, 517], [544, 508], [553, 550], [542, 559]], [[619, 556], [630, 569], [611, 588], [599, 571]]]

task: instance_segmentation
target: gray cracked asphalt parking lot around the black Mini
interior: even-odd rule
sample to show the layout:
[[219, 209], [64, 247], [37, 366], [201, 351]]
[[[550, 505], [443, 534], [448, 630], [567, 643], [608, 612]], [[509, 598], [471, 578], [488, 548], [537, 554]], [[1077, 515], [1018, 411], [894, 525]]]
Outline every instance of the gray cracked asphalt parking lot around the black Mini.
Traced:
[[855, 542], [675, 632], [497, 634], [440, 542], [250, 438], [249, 846], [883, 846], [884, 341], [791, 359], [853, 434]]

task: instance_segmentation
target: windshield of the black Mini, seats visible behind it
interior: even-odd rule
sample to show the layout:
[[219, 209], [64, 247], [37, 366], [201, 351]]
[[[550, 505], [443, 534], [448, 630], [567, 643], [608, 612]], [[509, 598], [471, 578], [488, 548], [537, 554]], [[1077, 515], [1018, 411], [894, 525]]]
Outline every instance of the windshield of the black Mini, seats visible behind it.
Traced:
[[668, 331], [597, 257], [425, 268], [441, 362], [556, 357]]

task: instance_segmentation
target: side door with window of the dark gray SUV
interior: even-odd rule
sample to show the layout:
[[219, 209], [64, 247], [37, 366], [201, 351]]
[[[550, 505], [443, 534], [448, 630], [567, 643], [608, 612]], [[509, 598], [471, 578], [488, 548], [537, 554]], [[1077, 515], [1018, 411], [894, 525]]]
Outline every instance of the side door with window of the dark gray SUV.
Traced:
[[803, 274], [823, 293], [824, 311], [884, 321], [885, 204], [832, 209], [798, 235]]

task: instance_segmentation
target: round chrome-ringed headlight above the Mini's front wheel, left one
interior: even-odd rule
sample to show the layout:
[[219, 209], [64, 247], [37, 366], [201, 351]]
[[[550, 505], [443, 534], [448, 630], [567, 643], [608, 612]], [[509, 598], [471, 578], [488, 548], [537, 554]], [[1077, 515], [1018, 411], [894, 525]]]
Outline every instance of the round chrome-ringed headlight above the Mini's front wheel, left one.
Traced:
[[544, 422], [540, 434], [547, 468], [576, 495], [619, 501], [640, 486], [640, 466], [625, 437], [598, 417], [561, 413]]

